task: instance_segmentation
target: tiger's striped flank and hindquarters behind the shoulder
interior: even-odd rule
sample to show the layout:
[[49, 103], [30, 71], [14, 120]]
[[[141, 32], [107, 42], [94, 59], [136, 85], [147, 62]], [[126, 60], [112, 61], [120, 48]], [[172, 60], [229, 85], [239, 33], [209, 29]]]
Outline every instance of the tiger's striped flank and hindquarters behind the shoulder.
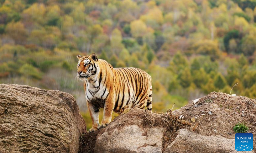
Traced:
[[138, 68], [115, 68], [115, 112], [137, 106], [152, 110], [151, 76]]

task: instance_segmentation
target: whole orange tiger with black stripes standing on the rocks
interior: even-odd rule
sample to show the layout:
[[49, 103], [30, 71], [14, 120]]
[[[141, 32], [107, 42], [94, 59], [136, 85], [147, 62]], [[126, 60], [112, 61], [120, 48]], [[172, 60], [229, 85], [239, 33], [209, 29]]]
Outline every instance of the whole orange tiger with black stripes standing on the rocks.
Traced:
[[[77, 56], [77, 77], [84, 81], [86, 103], [92, 118], [93, 132], [106, 127], [112, 112], [123, 113], [134, 106], [152, 110], [151, 76], [137, 68], [113, 68], [95, 54]], [[99, 124], [99, 108], [104, 108]]]

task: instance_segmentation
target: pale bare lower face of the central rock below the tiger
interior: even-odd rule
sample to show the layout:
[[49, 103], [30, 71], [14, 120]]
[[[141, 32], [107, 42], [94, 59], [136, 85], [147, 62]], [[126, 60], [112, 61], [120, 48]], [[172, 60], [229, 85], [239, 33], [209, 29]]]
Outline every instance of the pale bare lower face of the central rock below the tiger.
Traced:
[[137, 125], [130, 125], [122, 129], [114, 129], [111, 133], [103, 133], [97, 138], [94, 153], [161, 153], [163, 132], [164, 128], [150, 128], [147, 131], [147, 135], [143, 135], [143, 129]]

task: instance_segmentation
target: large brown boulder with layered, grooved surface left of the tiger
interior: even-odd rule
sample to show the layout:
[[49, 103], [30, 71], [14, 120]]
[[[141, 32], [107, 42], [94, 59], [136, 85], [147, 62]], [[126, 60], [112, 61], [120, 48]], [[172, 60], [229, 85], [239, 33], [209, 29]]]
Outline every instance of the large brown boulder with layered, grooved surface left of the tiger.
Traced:
[[86, 125], [72, 95], [0, 84], [0, 153], [77, 153], [84, 133]]

